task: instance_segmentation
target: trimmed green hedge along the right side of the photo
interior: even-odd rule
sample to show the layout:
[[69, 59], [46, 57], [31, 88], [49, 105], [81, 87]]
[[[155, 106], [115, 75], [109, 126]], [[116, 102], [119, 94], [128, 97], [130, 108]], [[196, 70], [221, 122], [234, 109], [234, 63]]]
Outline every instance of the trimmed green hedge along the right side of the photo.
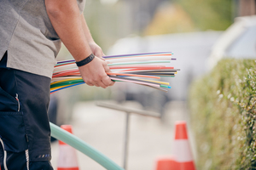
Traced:
[[222, 59], [191, 85], [198, 169], [256, 169], [255, 62]]

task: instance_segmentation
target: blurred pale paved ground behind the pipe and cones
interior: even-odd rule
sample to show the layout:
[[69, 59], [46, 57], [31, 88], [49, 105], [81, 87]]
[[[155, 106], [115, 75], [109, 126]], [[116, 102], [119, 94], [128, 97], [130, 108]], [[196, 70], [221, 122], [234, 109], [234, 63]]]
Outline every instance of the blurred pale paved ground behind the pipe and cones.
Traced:
[[[104, 101], [112, 103], [112, 101]], [[141, 109], [137, 103], [125, 106]], [[129, 155], [126, 170], [155, 170], [156, 159], [172, 155], [174, 123], [185, 120], [189, 114], [184, 102], [173, 101], [166, 105], [164, 122], [160, 119], [131, 115]], [[104, 155], [123, 166], [125, 136], [125, 113], [98, 107], [94, 102], [78, 103], [73, 110], [73, 133]], [[189, 126], [189, 124], [188, 124]], [[189, 131], [189, 141], [195, 157], [193, 135]], [[52, 144], [52, 164], [57, 167], [58, 143]], [[89, 157], [77, 152], [80, 170], [103, 170]]]

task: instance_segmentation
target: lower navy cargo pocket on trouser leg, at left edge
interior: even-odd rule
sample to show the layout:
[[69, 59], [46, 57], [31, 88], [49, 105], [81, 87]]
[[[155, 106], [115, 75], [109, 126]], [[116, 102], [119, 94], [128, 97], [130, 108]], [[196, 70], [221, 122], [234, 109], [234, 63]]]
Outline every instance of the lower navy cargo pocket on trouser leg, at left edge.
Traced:
[[20, 152], [27, 149], [21, 112], [0, 111], [0, 138], [3, 139], [4, 150]]

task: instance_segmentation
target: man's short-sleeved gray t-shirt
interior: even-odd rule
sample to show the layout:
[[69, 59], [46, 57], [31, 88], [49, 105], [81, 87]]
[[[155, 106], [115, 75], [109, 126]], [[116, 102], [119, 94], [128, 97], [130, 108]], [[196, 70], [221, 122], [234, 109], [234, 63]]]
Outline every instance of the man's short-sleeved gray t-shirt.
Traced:
[[[82, 12], [85, 1], [77, 2]], [[7, 67], [51, 78], [60, 48], [44, 0], [0, 0], [0, 60], [8, 51]]]

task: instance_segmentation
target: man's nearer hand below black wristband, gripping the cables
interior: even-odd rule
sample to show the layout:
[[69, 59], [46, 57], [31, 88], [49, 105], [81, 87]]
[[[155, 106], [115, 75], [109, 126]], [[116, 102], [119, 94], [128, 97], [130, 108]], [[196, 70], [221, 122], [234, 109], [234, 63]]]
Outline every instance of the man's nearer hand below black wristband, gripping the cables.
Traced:
[[89, 86], [107, 88], [113, 86], [111, 79], [106, 72], [110, 72], [105, 61], [99, 58], [94, 58], [89, 64], [79, 67], [81, 77]]

